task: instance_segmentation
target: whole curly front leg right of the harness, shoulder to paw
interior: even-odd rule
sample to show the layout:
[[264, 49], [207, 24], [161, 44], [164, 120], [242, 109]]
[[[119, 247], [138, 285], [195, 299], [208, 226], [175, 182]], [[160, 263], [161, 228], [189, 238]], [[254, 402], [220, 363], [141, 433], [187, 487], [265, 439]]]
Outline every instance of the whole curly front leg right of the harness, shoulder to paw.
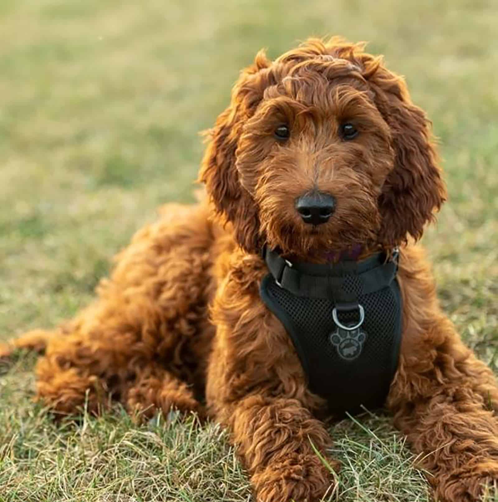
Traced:
[[435, 499], [477, 502], [498, 481], [498, 387], [439, 310], [427, 269], [409, 272], [401, 270], [406, 329], [387, 405], [430, 472]]

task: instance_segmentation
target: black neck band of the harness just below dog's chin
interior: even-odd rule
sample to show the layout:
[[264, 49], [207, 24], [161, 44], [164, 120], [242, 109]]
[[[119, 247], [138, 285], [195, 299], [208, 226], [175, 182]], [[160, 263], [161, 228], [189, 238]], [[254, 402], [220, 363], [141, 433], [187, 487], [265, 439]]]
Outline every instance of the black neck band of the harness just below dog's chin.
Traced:
[[[397, 272], [398, 254], [394, 253], [388, 262], [382, 262], [382, 254], [377, 253], [360, 265], [373, 264], [361, 271], [353, 261], [337, 265], [292, 264], [276, 251], [263, 248], [263, 258], [268, 270], [281, 288], [296, 296], [312, 298], [333, 298], [336, 302], [354, 303], [358, 296], [374, 293], [394, 280]], [[303, 268], [308, 269], [307, 273]]]

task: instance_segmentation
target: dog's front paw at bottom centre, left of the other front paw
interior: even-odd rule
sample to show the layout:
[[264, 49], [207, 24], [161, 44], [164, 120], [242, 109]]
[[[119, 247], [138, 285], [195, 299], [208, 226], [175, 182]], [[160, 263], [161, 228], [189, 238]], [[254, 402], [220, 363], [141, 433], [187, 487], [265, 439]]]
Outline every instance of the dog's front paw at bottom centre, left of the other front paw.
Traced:
[[333, 489], [332, 473], [312, 454], [272, 462], [252, 481], [257, 502], [318, 502]]

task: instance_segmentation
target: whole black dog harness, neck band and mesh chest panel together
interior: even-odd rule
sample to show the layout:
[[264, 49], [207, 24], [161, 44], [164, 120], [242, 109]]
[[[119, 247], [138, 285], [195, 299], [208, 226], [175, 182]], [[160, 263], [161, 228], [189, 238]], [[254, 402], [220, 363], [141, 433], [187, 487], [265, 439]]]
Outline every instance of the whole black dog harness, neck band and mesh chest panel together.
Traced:
[[397, 252], [334, 265], [290, 263], [263, 250], [260, 295], [292, 339], [310, 389], [336, 413], [382, 406], [402, 332]]

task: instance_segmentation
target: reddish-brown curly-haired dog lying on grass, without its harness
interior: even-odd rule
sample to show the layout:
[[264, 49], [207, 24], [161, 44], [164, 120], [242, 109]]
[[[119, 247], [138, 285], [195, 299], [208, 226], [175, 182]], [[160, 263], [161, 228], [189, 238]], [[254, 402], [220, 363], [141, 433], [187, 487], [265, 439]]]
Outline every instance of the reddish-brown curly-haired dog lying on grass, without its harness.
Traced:
[[[402, 344], [385, 407], [437, 500], [477, 500], [498, 479], [494, 375], [441, 311], [414, 244], [446, 196], [430, 126], [404, 80], [363, 48], [310, 39], [242, 71], [208, 135], [209, 197], [164, 206], [75, 319], [4, 345], [4, 355], [46, 347], [39, 398], [60, 414], [86, 399], [94, 413], [119, 400], [145, 417], [171, 407], [214, 417], [258, 501], [318, 500], [333, 482], [311, 446], [331, 445], [318, 418], [327, 403], [261, 300], [260, 250], [317, 264], [399, 246]], [[295, 206], [314, 191], [334, 200], [320, 225]]]

